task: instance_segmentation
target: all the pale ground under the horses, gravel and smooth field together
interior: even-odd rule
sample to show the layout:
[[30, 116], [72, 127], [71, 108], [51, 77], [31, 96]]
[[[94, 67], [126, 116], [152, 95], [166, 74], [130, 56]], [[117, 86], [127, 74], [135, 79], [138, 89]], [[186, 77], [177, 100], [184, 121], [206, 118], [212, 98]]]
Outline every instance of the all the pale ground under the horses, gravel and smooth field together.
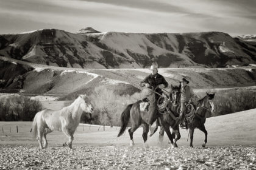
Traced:
[[1, 122], [0, 169], [256, 169], [255, 116], [252, 109], [207, 118], [206, 148], [201, 146], [201, 131], [196, 129], [194, 148], [190, 148], [188, 132], [182, 129], [175, 149], [166, 135], [158, 143], [158, 133], [149, 137], [145, 148], [142, 128], [134, 133], [135, 146], [130, 148], [127, 131], [116, 137], [119, 127], [80, 124], [73, 149], [62, 147], [66, 140], [62, 132], [52, 132], [48, 149], [40, 151], [31, 137], [31, 122]]

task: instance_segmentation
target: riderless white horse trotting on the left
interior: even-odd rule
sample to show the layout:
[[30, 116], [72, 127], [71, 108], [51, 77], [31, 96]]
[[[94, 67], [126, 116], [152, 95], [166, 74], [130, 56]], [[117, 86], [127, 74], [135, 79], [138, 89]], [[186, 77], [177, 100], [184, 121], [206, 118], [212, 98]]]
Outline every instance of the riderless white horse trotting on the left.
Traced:
[[[46, 135], [52, 131], [62, 131], [69, 138], [63, 146], [67, 145], [72, 148], [73, 135], [77, 126], [79, 126], [82, 113], [91, 114], [93, 112], [93, 106], [86, 99], [86, 95], [79, 95], [72, 104], [63, 107], [61, 110], [44, 109], [35, 115], [32, 124], [33, 137], [38, 137], [40, 149], [47, 148]], [[42, 138], [44, 140], [43, 147]]]

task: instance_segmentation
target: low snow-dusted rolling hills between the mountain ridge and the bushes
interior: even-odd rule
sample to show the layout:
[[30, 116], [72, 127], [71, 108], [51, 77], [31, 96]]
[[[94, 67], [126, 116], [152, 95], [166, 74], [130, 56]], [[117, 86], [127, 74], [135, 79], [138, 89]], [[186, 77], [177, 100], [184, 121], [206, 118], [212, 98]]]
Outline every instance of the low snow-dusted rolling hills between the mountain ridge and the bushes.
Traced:
[[[140, 81], [149, 69], [77, 69], [46, 66], [12, 58], [0, 58], [2, 92], [26, 94], [90, 94], [95, 87], [105, 86], [119, 95], [141, 90]], [[183, 78], [195, 89], [256, 85], [255, 67], [235, 68], [163, 68], [158, 72], [172, 85]]]

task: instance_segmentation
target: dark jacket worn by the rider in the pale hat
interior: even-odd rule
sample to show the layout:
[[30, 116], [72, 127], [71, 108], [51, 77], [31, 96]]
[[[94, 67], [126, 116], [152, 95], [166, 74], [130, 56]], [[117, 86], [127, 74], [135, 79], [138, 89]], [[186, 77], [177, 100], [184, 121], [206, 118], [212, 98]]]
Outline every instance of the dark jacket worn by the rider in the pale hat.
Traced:
[[[165, 85], [165, 88], [168, 87], [168, 83], [165, 78], [158, 73], [156, 75], [150, 74], [144, 78], [144, 80], [140, 83], [140, 87], [144, 87], [144, 83], [148, 83], [151, 88], [153, 87], [153, 89], [155, 89], [155, 87], [159, 86], [160, 84]], [[159, 88], [157, 88], [156, 92], [162, 94], [162, 90]]]

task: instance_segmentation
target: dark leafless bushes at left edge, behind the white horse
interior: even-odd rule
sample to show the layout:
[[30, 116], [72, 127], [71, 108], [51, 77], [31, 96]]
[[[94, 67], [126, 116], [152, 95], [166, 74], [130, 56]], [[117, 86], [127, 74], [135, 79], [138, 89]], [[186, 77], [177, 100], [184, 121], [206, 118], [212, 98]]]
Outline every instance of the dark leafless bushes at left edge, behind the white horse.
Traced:
[[21, 95], [1, 97], [0, 103], [1, 121], [32, 121], [43, 109], [40, 101]]

